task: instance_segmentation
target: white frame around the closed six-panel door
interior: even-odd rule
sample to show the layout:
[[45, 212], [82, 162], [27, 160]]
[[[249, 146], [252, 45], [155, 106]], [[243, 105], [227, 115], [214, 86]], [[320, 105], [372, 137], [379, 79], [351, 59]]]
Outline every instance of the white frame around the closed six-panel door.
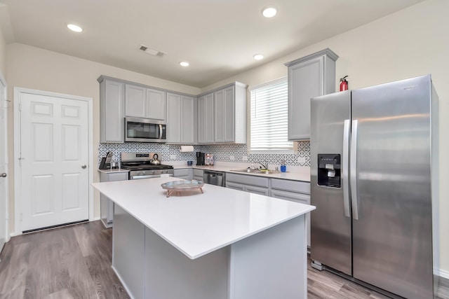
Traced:
[[58, 92], [48, 92], [43, 90], [32, 90], [29, 88], [14, 88], [14, 235], [22, 235], [22, 168], [20, 167], [20, 99], [22, 94], [42, 95], [45, 97], [62, 97], [85, 101], [88, 103], [88, 209], [89, 221], [93, 221], [93, 99], [91, 97], [81, 97], [77, 95], [66, 95]]

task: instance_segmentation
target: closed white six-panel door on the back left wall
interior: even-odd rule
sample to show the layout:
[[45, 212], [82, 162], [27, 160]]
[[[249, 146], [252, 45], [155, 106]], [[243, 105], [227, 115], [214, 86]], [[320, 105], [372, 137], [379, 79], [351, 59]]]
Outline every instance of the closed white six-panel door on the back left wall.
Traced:
[[89, 217], [88, 102], [20, 93], [21, 230]]

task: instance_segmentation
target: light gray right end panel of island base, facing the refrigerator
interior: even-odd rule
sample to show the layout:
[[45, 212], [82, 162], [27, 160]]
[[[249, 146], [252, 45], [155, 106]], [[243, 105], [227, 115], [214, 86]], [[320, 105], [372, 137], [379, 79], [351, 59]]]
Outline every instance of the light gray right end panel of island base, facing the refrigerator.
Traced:
[[307, 298], [305, 216], [231, 245], [230, 299]]

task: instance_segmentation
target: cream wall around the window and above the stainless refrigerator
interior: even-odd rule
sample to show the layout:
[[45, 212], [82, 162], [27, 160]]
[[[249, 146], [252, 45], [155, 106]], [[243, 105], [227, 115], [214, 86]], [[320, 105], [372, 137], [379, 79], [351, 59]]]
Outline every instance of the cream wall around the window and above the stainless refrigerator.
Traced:
[[[332, 24], [329, 24], [332, 26]], [[257, 85], [287, 76], [285, 62], [330, 48], [337, 60], [337, 80], [349, 75], [349, 88], [431, 74], [440, 99], [440, 181], [449, 181], [449, 1], [424, 1], [368, 25], [321, 41], [256, 69], [204, 88], [232, 81]], [[336, 82], [338, 87], [339, 83]], [[449, 277], [449, 184], [440, 184], [441, 269]]]

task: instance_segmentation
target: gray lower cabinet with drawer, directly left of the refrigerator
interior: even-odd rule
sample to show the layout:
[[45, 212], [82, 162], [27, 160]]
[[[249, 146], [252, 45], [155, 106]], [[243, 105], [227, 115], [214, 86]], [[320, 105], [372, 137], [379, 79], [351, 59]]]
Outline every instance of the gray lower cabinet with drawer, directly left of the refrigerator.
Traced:
[[[281, 200], [290, 200], [302, 204], [310, 204], [310, 183], [303, 181], [290, 181], [285, 179], [272, 179], [271, 197]], [[307, 220], [307, 246], [310, 246], [310, 214]]]

